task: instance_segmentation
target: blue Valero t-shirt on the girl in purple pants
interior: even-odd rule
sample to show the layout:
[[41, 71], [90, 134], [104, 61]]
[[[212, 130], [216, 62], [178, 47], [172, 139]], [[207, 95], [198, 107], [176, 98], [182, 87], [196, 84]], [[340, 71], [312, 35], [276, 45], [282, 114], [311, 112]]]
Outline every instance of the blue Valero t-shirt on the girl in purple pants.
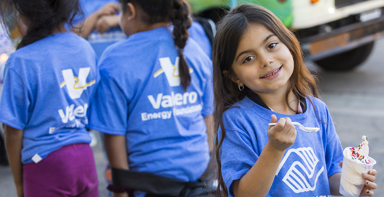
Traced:
[[96, 54], [74, 33], [54, 33], [10, 55], [0, 122], [23, 130], [23, 164], [91, 142], [87, 109], [98, 80]]

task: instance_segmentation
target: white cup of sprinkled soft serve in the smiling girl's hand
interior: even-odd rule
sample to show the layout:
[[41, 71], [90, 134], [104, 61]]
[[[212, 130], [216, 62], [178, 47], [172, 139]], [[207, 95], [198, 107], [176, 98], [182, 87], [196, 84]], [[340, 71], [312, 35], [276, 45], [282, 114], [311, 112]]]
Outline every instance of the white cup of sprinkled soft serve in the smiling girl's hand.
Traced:
[[366, 136], [362, 137], [359, 147], [347, 147], [343, 151], [343, 169], [341, 170], [340, 194], [347, 197], [358, 197], [364, 187], [362, 174], [368, 173], [376, 164], [376, 160], [368, 156], [369, 147]]

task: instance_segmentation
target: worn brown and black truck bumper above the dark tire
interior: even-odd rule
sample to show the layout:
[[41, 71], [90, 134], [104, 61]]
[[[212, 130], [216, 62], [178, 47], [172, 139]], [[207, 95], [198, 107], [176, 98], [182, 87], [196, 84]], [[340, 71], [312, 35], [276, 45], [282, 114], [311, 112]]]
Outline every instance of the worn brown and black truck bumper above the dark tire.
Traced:
[[384, 15], [366, 22], [354, 23], [300, 39], [303, 50], [314, 60], [336, 55], [366, 43], [372, 42], [384, 35]]

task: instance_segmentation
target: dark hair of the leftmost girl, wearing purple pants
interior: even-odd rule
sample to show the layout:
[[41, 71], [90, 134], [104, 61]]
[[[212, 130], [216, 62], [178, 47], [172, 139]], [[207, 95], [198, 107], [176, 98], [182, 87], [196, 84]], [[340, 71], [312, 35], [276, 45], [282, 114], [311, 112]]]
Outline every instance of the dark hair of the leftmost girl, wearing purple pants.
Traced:
[[17, 48], [51, 35], [62, 23], [73, 27], [75, 17], [83, 15], [78, 0], [0, 0], [0, 5], [4, 24], [7, 24], [6, 20], [10, 17], [16, 17], [14, 23], [18, 23], [20, 17], [26, 20], [28, 28]]

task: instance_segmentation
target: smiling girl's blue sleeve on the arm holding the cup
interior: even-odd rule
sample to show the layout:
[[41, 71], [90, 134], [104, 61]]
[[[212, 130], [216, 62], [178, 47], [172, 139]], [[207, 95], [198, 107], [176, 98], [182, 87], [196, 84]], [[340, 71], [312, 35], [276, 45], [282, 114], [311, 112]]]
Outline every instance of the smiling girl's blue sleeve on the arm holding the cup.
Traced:
[[327, 167], [328, 177], [341, 172], [339, 162], [343, 160], [343, 147], [341, 146], [339, 136], [336, 133], [336, 129], [333, 124], [331, 115], [328, 108], [326, 109], [328, 124], [326, 127], [327, 142], [325, 149], [325, 162]]

